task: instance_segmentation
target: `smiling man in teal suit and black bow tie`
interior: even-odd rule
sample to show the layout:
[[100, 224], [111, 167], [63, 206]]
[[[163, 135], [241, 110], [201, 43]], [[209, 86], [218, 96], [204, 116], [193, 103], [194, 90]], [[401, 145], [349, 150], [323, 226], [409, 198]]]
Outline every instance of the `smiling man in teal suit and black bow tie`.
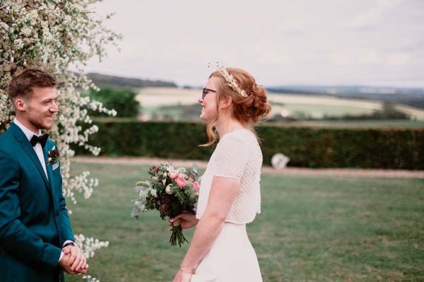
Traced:
[[61, 188], [59, 151], [41, 135], [52, 128], [56, 80], [26, 69], [8, 96], [16, 118], [0, 135], [0, 281], [64, 281], [83, 273], [86, 258], [73, 242]]

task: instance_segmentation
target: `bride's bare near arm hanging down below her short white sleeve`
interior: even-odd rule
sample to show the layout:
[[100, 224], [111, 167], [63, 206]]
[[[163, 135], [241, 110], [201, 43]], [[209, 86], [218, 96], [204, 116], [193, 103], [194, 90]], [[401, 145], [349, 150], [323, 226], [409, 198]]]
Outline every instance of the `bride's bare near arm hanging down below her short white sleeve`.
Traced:
[[192, 244], [181, 264], [182, 269], [193, 270], [211, 248], [223, 227], [228, 212], [230, 212], [239, 187], [240, 180], [238, 179], [220, 176], [213, 178], [208, 204], [197, 223]]

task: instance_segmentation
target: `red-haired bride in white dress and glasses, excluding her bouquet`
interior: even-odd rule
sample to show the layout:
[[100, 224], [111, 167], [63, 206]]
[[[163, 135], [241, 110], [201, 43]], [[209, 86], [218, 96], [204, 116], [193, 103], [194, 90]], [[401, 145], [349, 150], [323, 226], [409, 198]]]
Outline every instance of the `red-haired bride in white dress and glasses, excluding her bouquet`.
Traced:
[[[174, 282], [262, 281], [246, 223], [260, 213], [261, 148], [253, 125], [269, 114], [264, 87], [239, 68], [218, 68], [206, 83], [200, 118], [213, 152], [201, 178], [196, 216], [182, 213], [182, 228], [196, 226]], [[216, 135], [218, 132], [218, 136]]]

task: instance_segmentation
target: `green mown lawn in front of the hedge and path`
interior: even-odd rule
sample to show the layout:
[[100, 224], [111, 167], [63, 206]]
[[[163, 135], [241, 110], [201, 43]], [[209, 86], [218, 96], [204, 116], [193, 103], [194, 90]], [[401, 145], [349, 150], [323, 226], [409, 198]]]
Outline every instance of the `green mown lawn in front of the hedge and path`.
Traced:
[[[100, 180], [69, 207], [76, 233], [110, 241], [89, 261], [102, 282], [172, 281], [187, 250], [170, 247], [154, 212], [130, 218], [147, 168], [73, 164]], [[424, 281], [423, 179], [263, 175], [261, 189], [262, 214], [247, 232], [264, 281]]]

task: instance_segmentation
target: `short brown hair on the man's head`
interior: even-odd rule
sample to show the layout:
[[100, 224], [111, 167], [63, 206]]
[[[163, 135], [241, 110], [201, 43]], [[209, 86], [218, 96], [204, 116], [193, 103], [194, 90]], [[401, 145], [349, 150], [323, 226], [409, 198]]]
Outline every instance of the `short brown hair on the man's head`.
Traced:
[[30, 99], [33, 94], [33, 87], [56, 87], [57, 81], [49, 73], [26, 68], [25, 71], [15, 75], [8, 85], [8, 97], [11, 101], [20, 97]]

